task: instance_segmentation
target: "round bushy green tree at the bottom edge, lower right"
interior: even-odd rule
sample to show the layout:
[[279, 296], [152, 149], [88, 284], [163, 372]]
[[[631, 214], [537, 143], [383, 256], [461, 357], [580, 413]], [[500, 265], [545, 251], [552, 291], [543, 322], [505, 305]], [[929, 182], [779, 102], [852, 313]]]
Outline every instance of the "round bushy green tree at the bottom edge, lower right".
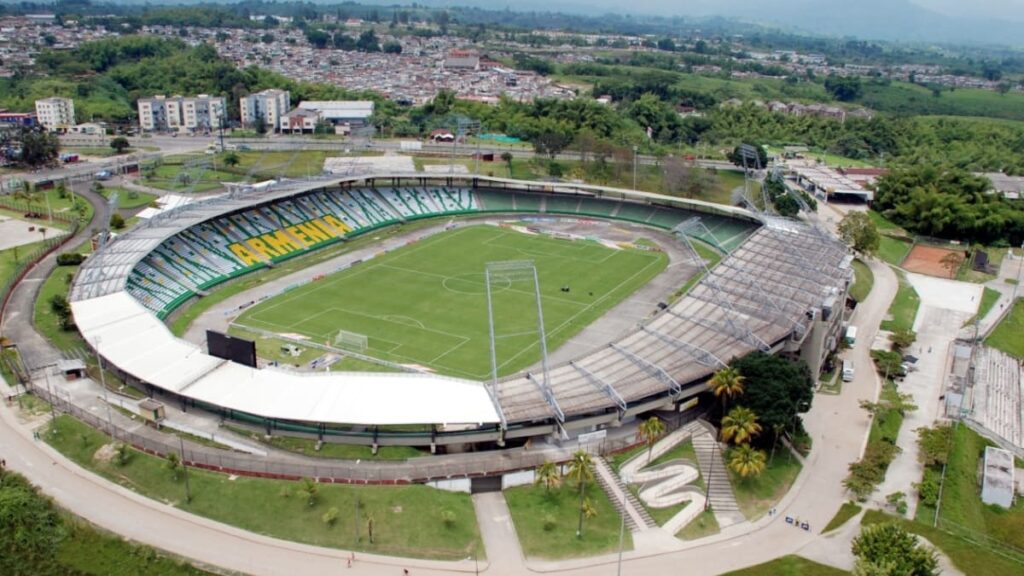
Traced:
[[865, 526], [853, 539], [852, 549], [857, 558], [855, 574], [935, 576], [939, 573], [935, 552], [895, 522]]

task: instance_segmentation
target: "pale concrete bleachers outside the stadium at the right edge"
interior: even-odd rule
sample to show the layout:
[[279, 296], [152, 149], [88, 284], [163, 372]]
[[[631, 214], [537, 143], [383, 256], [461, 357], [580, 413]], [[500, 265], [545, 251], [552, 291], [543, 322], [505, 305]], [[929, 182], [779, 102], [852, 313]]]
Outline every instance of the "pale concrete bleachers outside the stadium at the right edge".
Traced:
[[995, 348], [975, 352], [971, 419], [1018, 447], [1024, 447], [1022, 371], [1020, 361]]

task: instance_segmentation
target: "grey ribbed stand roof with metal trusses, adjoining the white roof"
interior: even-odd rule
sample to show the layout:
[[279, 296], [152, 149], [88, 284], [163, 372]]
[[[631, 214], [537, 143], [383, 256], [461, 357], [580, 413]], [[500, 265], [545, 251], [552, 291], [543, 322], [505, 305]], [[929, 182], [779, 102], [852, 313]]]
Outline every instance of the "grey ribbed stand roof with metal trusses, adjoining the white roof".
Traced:
[[846, 250], [804, 229], [764, 227], [640, 330], [550, 372], [500, 380], [509, 421], [566, 418], [699, 381], [735, 357], [806, 330], [806, 312], [849, 279]]

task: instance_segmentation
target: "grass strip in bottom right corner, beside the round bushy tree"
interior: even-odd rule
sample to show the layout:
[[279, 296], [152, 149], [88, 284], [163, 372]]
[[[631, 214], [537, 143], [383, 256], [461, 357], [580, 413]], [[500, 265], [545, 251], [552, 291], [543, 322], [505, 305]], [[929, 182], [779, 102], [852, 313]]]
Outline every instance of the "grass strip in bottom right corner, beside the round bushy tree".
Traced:
[[965, 538], [933, 528], [931, 525], [911, 522], [880, 510], [867, 510], [861, 526], [883, 522], [897, 522], [906, 531], [920, 534], [949, 557], [953, 566], [971, 576], [1009, 576], [1024, 572], [1024, 558], [1019, 561], [1005, 549], [998, 551], [980, 539]]

